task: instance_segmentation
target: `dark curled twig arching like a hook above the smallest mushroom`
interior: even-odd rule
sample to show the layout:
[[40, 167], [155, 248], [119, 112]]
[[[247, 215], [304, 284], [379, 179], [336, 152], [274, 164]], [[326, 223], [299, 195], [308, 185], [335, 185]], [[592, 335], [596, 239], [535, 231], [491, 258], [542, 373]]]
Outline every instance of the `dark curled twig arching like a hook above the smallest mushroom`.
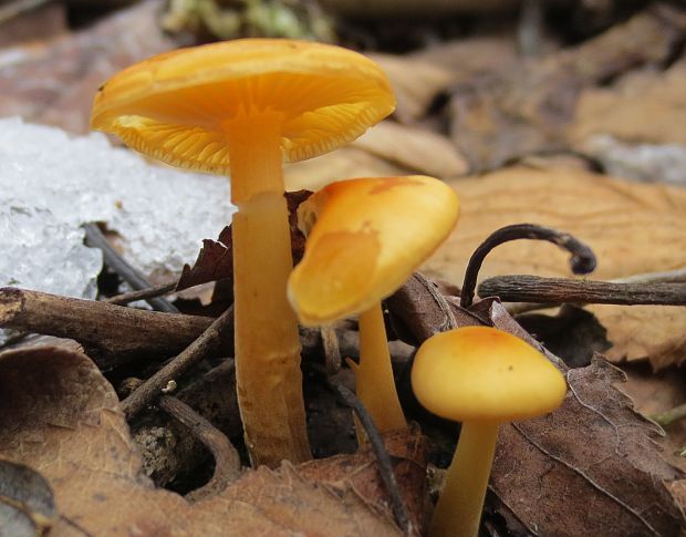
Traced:
[[496, 246], [518, 239], [547, 240], [568, 250], [572, 255], [570, 258], [570, 267], [575, 275], [585, 275], [595, 269], [595, 255], [591, 248], [570, 234], [538, 226], [536, 224], [514, 224], [512, 226], [506, 226], [493, 231], [471, 255], [465, 272], [465, 281], [460, 295], [460, 306], [462, 308], [469, 308], [472, 303], [477, 277], [479, 276], [479, 269], [486, 256]]

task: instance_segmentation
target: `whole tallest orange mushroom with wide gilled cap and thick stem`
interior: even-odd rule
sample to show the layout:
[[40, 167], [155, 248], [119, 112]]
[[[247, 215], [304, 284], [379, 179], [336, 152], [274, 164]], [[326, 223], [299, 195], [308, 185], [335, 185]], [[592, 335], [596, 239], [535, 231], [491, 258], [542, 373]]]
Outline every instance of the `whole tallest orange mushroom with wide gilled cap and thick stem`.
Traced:
[[[310, 458], [282, 163], [332, 151], [395, 106], [371, 60], [332, 45], [237, 40], [133, 65], [91, 125], [175, 166], [231, 176], [236, 378], [253, 464]], [[288, 187], [288, 185], [285, 185]]]

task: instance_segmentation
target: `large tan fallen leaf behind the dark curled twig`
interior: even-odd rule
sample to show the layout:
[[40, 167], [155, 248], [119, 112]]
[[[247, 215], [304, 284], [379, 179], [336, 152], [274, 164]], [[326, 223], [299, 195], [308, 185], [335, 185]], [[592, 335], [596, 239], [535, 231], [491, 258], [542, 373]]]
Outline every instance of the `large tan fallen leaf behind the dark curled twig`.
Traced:
[[[645, 185], [579, 169], [512, 167], [451, 183], [460, 197], [457, 229], [424, 270], [461, 285], [467, 260], [493, 230], [530, 221], [564, 229], [599, 259], [594, 279], [686, 266], [686, 189]], [[557, 247], [518, 240], [496, 248], [480, 278], [532, 273], [570, 277]], [[686, 310], [677, 307], [593, 306], [607, 329], [614, 362], [648, 359], [655, 369], [686, 357]]]

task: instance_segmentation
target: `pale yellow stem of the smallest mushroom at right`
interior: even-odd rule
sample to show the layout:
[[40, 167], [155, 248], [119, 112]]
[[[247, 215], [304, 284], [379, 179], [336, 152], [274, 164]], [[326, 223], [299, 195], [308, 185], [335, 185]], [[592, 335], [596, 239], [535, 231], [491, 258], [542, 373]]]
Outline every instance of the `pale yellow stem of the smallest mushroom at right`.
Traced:
[[476, 537], [493, 463], [498, 423], [464, 422], [429, 528], [430, 537]]

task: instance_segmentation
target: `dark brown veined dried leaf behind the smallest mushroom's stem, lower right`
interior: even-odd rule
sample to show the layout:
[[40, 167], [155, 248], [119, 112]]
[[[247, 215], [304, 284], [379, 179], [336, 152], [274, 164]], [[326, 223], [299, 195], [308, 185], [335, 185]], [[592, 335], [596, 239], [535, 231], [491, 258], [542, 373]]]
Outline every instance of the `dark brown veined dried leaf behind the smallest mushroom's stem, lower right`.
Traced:
[[503, 426], [491, 487], [498, 512], [533, 535], [676, 536], [684, 507], [671, 492], [683, 473], [662, 457], [662, 430], [612, 384], [602, 359], [567, 374], [563, 405]]

